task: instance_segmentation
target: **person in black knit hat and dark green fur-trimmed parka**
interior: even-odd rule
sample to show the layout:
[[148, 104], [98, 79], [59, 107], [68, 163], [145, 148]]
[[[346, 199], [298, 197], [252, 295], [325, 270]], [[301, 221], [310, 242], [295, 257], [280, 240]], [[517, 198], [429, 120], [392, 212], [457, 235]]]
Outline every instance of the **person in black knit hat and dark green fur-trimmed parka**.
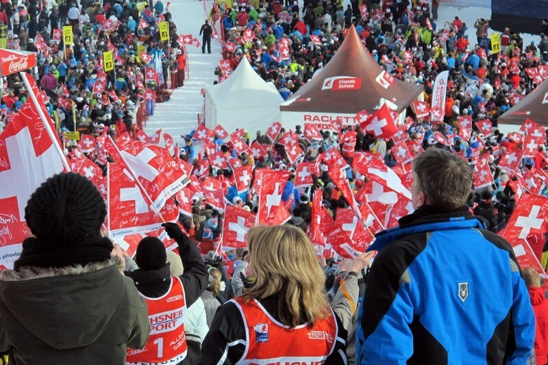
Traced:
[[124, 364], [149, 337], [147, 306], [119, 245], [101, 235], [106, 208], [90, 180], [58, 174], [25, 208], [32, 236], [0, 271], [0, 353], [10, 364]]

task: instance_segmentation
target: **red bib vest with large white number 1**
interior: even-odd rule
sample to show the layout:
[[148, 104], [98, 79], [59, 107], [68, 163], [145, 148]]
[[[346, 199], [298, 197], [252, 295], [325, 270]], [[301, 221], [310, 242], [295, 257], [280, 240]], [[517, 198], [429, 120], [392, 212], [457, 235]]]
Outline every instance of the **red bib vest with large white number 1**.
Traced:
[[150, 337], [144, 349], [127, 349], [127, 363], [177, 364], [186, 357], [186, 300], [181, 280], [171, 278], [171, 286], [162, 297], [139, 295], [149, 306]]

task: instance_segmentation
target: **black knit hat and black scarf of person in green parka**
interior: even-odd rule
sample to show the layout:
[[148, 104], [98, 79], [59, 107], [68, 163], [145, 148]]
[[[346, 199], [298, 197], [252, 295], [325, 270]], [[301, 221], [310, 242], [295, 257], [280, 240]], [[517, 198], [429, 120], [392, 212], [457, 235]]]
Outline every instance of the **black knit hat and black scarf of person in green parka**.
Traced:
[[23, 242], [15, 269], [108, 260], [113, 245], [101, 237], [105, 215], [101, 194], [84, 176], [69, 172], [48, 178], [27, 202], [25, 221], [34, 237]]

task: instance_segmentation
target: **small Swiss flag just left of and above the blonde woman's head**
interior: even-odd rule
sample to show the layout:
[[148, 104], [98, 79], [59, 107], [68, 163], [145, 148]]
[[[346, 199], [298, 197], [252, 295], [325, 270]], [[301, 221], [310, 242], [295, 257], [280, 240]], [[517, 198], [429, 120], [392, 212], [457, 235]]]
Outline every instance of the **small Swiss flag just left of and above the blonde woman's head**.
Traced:
[[247, 231], [256, 224], [256, 214], [229, 205], [223, 220], [223, 247], [246, 248]]

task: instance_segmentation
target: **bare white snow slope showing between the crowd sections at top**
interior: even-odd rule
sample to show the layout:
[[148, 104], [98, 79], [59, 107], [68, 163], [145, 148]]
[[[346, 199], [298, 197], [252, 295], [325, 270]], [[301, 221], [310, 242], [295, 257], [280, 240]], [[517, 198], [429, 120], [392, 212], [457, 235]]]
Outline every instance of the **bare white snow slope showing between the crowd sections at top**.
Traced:
[[[178, 33], [192, 33], [201, 42], [198, 36], [203, 21], [206, 19], [206, 10], [208, 12], [212, 5], [212, 0], [176, 0], [171, 3], [169, 10], [173, 14], [173, 19], [177, 25]], [[345, 0], [350, 3], [349, 0]], [[303, 0], [299, 0], [302, 9]], [[438, 12], [438, 27], [443, 27], [445, 22], [452, 22], [455, 16], [458, 16], [469, 28], [468, 35], [472, 44], [475, 44], [474, 23], [477, 18], [491, 17], [491, 10], [488, 8], [469, 7], [458, 8], [454, 6], [440, 6]], [[493, 31], [490, 31], [493, 33]], [[525, 46], [531, 42], [538, 44], [539, 36], [522, 34]], [[221, 43], [219, 40], [212, 39], [211, 54], [202, 54], [201, 49], [194, 46], [188, 46], [188, 59], [190, 68], [190, 78], [187, 78], [184, 87], [175, 89], [171, 100], [167, 103], [156, 105], [155, 114], [149, 118], [145, 132], [152, 134], [158, 129], [169, 133], [175, 139], [175, 143], [181, 146], [181, 134], [187, 134], [197, 126], [197, 115], [201, 112], [203, 106], [203, 96], [201, 89], [206, 85], [211, 85], [216, 80], [213, 74], [215, 67], [218, 66], [221, 59]], [[163, 139], [162, 139], [163, 141]]]

